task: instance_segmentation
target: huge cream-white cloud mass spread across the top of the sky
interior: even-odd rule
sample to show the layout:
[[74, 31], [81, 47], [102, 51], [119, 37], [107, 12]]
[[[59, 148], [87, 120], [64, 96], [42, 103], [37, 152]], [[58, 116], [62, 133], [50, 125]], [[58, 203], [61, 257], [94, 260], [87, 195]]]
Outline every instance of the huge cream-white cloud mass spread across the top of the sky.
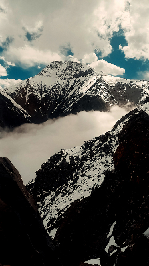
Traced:
[[128, 42], [120, 46], [126, 58], [149, 59], [148, 0], [0, 0], [0, 8], [7, 62], [49, 64], [67, 60], [63, 51], [71, 49], [75, 60], [91, 63], [95, 52], [112, 52], [110, 40], [119, 28]]

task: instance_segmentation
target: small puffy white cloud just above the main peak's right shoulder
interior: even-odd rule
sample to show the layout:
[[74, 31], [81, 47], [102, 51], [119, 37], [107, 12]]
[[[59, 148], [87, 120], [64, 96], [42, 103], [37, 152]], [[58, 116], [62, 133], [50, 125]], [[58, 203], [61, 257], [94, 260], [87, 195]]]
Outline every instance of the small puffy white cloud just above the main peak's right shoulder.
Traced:
[[102, 71], [105, 74], [117, 76], [117, 75], [123, 75], [125, 73], [124, 68], [120, 68], [116, 65], [113, 65], [111, 63], [108, 63], [107, 61], [100, 59], [98, 61], [94, 61], [91, 64], [89, 64], [90, 67], [93, 67], [97, 71]]

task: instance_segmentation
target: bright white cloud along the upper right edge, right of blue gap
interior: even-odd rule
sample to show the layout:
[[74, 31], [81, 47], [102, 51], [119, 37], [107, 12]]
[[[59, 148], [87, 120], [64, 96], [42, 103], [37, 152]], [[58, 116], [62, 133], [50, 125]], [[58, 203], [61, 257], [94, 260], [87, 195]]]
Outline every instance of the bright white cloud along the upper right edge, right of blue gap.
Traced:
[[122, 28], [127, 46], [119, 46], [126, 58], [149, 59], [149, 2], [146, 0], [129, 1], [125, 13], [126, 20], [122, 21]]

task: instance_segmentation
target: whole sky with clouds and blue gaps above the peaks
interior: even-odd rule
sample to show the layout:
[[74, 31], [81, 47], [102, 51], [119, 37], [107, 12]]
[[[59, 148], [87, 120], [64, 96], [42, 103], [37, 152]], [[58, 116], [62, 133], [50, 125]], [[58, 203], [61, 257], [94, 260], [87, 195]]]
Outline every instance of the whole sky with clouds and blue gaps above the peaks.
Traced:
[[148, 0], [0, 0], [0, 86], [53, 60], [149, 79]]

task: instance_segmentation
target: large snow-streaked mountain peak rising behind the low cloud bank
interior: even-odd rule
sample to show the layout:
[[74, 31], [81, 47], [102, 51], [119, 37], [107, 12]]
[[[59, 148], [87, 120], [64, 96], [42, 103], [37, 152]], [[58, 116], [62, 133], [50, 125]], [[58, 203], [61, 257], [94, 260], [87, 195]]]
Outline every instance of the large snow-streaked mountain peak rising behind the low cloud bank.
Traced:
[[149, 81], [128, 80], [97, 72], [90, 66], [53, 61], [39, 74], [3, 89], [41, 123], [82, 110], [106, 111], [128, 102], [138, 106], [148, 97]]

